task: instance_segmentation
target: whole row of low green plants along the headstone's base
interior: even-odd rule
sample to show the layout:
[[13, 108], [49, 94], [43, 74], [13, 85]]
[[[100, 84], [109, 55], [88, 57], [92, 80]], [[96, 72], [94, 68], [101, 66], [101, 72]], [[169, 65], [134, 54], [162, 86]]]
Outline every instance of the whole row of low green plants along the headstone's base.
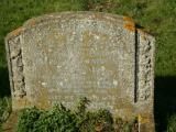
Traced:
[[[87, 98], [81, 98], [76, 109], [55, 105], [51, 110], [26, 108], [20, 112], [18, 132], [138, 132], [129, 123], [113, 122], [112, 114], [105, 109], [88, 111]], [[118, 123], [118, 124], [117, 124]], [[116, 128], [118, 125], [119, 128]], [[128, 129], [127, 129], [128, 128]], [[123, 131], [124, 130], [124, 131]]]

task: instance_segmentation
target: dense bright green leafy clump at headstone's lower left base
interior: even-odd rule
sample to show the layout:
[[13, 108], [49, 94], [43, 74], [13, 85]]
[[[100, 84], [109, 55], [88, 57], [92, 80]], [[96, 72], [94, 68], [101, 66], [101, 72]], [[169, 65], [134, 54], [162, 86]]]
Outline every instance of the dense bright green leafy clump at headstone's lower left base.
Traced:
[[63, 105], [56, 105], [47, 111], [28, 108], [20, 113], [18, 132], [75, 132], [76, 122], [76, 114]]

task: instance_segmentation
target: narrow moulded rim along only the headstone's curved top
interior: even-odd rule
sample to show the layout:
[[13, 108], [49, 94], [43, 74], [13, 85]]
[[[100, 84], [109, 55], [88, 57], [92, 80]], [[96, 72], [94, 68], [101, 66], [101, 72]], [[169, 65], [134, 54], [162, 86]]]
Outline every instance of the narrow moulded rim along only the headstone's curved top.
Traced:
[[103, 13], [103, 12], [92, 12], [92, 11], [75, 11], [75, 12], [57, 12], [57, 13], [50, 13], [50, 14], [43, 14], [41, 16], [36, 16], [36, 18], [32, 18], [30, 20], [28, 20], [26, 22], [23, 23], [22, 26], [18, 28], [16, 30], [10, 32], [7, 36], [6, 40], [10, 40], [12, 37], [15, 37], [18, 35], [20, 35], [22, 32], [24, 32], [28, 29], [34, 28], [37, 24], [47, 22], [47, 21], [52, 21], [52, 20], [59, 20], [62, 19], [62, 16], [77, 16], [77, 18], [81, 18], [87, 15], [87, 16], [94, 16], [95, 19], [107, 19], [109, 21], [114, 21], [114, 22], [120, 22], [122, 23], [123, 28], [135, 32], [135, 30], [139, 31], [139, 33], [145, 33], [147, 35], [150, 35], [151, 37], [153, 37], [150, 33], [145, 32], [144, 30], [138, 29], [135, 26], [135, 22], [133, 21], [133, 19], [129, 18], [129, 16], [123, 16], [123, 15], [118, 15], [118, 14], [111, 14], [111, 13]]

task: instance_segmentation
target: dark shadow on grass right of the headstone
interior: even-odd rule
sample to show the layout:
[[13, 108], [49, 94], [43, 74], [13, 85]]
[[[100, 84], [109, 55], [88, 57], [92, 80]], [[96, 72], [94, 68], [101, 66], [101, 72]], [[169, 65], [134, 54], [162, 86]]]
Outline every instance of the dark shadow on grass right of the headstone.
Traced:
[[155, 123], [156, 131], [163, 132], [167, 128], [168, 118], [176, 112], [176, 77], [155, 78]]

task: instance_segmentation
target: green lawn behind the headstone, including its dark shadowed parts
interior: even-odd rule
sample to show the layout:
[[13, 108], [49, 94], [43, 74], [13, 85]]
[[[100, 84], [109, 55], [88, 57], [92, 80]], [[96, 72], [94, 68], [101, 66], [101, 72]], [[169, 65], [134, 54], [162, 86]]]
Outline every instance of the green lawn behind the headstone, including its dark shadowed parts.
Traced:
[[3, 38], [28, 19], [82, 10], [128, 15], [156, 37], [155, 121], [165, 131], [176, 111], [175, 7], [175, 0], [0, 0], [0, 98], [10, 97]]

